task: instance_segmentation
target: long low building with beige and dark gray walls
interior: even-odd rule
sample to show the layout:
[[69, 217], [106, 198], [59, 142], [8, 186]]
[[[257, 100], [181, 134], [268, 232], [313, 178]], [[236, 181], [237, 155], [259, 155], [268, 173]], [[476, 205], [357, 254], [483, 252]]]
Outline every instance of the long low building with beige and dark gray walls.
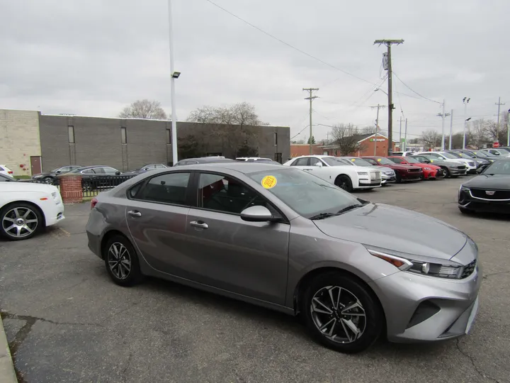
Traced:
[[[178, 121], [179, 145], [191, 142], [200, 146], [203, 155], [235, 157], [239, 143], [232, 143], [228, 135], [210, 133], [228, 129], [235, 131], [237, 126]], [[290, 156], [290, 128], [245, 126], [242, 129], [248, 132], [247, 144], [252, 155], [278, 162]], [[15, 175], [35, 174], [40, 168], [47, 171], [63, 165], [109, 165], [118, 170], [132, 170], [147, 163], [170, 164], [170, 132], [171, 121], [0, 110], [0, 163], [10, 167]], [[179, 160], [182, 157], [179, 154]]]

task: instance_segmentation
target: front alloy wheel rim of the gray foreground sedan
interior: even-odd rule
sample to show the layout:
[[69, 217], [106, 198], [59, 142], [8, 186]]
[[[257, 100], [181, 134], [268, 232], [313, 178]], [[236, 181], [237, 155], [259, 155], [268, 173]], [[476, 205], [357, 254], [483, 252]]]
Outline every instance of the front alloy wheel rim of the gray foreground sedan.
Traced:
[[310, 313], [322, 335], [336, 343], [353, 343], [365, 332], [365, 309], [356, 295], [343, 287], [319, 289], [312, 298]]

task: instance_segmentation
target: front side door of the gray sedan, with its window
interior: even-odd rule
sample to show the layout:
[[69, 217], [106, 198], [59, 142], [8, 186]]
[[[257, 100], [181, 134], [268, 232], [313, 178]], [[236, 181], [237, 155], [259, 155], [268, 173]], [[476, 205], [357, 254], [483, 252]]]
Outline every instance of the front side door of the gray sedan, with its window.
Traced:
[[246, 222], [249, 206], [276, 209], [261, 194], [227, 174], [202, 172], [197, 206], [186, 220], [186, 278], [218, 289], [285, 303], [290, 225]]

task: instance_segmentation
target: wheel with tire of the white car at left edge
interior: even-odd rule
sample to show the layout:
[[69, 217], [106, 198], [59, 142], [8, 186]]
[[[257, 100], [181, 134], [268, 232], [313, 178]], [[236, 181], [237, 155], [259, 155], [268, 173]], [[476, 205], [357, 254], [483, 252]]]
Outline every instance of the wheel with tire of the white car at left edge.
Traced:
[[[25, 216], [27, 211], [30, 212]], [[14, 220], [17, 218], [23, 220], [23, 225], [16, 224]], [[19, 222], [21, 223], [21, 221]], [[8, 240], [32, 238], [44, 227], [44, 216], [35, 205], [26, 202], [13, 202], [0, 209], [0, 235]]]

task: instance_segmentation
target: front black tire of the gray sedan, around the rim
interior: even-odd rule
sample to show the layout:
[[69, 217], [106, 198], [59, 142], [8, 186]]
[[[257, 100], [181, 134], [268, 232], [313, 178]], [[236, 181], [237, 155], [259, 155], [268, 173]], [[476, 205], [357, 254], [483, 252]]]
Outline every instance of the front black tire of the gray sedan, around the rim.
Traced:
[[[329, 311], [336, 311], [336, 314], [329, 314], [327, 311], [322, 313], [313, 311], [313, 307], [324, 308], [324, 306], [319, 306], [316, 303], [317, 299], [314, 298], [317, 297], [319, 300], [324, 298], [325, 304], [328, 304], [327, 299], [329, 299], [329, 302], [331, 302], [329, 307], [334, 308], [333, 299], [329, 298], [329, 289], [332, 290], [331, 294], [336, 296], [336, 289], [339, 288], [341, 288], [341, 294], [336, 299], [340, 302], [340, 304], [336, 305], [338, 308], [341, 307], [341, 304], [345, 308], [353, 303], [360, 304], [361, 308], [355, 307], [348, 311], [353, 314], [350, 316], [342, 314], [341, 309], [329, 309]], [[328, 292], [328, 294], [324, 294], [324, 292]], [[382, 326], [385, 321], [379, 302], [363, 282], [359, 282], [347, 274], [342, 272], [325, 272], [324, 274], [317, 275], [307, 284], [299, 299], [300, 311], [308, 331], [315, 340], [332, 350], [341, 353], [360, 353], [373, 345], [382, 333]], [[357, 300], [355, 301], [354, 299]], [[365, 313], [364, 317], [354, 315], [363, 311]], [[331, 323], [331, 321], [334, 322]], [[361, 333], [361, 335], [354, 335], [354, 331], [349, 331], [350, 328], [344, 327], [345, 325], [336, 328], [337, 321], [341, 324], [345, 323], [344, 321], [349, 321], [353, 326], [356, 326], [358, 333]], [[335, 325], [334, 328], [331, 329], [331, 325], [327, 326], [327, 323]], [[334, 336], [331, 337], [331, 335], [327, 335], [319, 330], [320, 324], [324, 327], [324, 332], [331, 331], [331, 335]], [[362, 327], [363, 331], [360, 331]], [[334, 340], [334, 338], [337, 340]], [[343, 338], [344, 341], [347, 340], [348, 342], [341, 343]]]

